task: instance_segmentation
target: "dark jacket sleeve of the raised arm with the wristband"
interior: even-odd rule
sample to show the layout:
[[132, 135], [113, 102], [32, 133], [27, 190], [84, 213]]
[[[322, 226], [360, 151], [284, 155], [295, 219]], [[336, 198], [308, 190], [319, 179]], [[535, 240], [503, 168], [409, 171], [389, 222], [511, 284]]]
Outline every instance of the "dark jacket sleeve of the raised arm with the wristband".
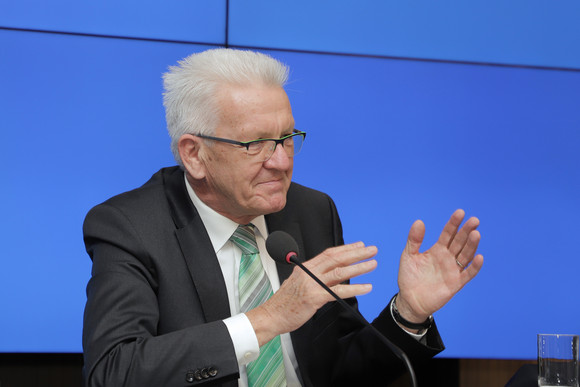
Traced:
[[[299, 221], [309, 225], [303, 229], [307, 257], [325, 248], [344, 243], [338, 211], [332, 199], [318, 195], [300, 198], [300, 203], [312, 204], [307, 217]], [[297, 211], [297, 210], [295, 210]], [[385, 297], [386, 302], [389, 298]], [[355, 298], [345, 300], [358, 313]], [[394, 321], [387, 305], [372, 322], [373, 326], [392, 343], [401, 348], [415, 368], [444, 349], [433, 325], [426, 336], [417, 341]], [[404, 363], [369, 328], [337, 302], [325, 305], [314, 318], [294, 334], [295, 349], [303, 354], [301, 372], [308, 385], [313, 386], [378, 386], [386, 385], [405, 372]], [[302, 343], [307, 342], [307, 345]], [[296, 348], [298, 347], [298, 348]], [[306, 381], [306, 380], [305, 380]]]

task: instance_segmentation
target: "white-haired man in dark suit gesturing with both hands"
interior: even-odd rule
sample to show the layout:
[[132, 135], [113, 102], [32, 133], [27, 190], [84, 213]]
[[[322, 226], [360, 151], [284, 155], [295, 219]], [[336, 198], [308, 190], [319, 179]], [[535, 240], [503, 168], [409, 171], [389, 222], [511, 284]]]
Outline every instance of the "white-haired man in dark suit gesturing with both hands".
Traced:
[[[376, 267], [376, 247], [344, 245], [332, 200], [291, 183], [305, 134], [294, 127], [287, 73], [265, 55], [217, 49], [165, 74], [180, 167], [85, 220], [88, 386], [384, 385], [403, 369], [318, 284], [264, 247], [284, 230], [305, 265], [352, 306], [371, 290], [348, 280]], [[456, 211], [425, 253], [424, 226], [412, 226], [400, 291], [373, 322], [414, 363], [443, 349], [430, 316], [483, 264], [478, 220], [459, 229], [463, 215]]]

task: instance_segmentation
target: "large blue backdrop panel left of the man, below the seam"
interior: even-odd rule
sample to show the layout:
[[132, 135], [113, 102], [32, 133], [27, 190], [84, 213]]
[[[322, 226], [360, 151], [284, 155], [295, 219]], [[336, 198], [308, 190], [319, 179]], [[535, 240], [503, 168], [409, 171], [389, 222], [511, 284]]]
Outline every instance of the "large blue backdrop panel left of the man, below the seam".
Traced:
[[161, 73], [201, 48], [11, 31], [0, 46], [0, 352], [79, 352], [84, 216], [173, 164]]

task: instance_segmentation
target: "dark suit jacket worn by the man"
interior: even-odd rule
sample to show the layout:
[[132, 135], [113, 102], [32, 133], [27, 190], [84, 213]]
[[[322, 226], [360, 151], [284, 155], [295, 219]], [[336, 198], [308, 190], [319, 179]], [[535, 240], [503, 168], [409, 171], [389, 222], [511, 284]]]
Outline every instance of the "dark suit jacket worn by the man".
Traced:
[[[295, 183], [286, 207], [266, 222], [270, 232], [290, 233], [303, 257], [343, 244], [332, 200]], [[93, 208], [84, 239], [93, 260], [83, 330], [88, 386], [237, 385], [238, 364], [222, 321], [230, 316], [224, 279], [180, 169], [162, 169], [142, 187]], [[278, 266], [280, 282], [291, 270]], [[355, 299], [348, 301], [356, 307]], [[415, 363], [443, 349], [435, 327], [418, 343], [388, 310], [373, 324]], [[306, 386], [385, 385], [403, 370], [336, 302], [291, 337]], [[215, 376], [191, 377], [204, 369]]]

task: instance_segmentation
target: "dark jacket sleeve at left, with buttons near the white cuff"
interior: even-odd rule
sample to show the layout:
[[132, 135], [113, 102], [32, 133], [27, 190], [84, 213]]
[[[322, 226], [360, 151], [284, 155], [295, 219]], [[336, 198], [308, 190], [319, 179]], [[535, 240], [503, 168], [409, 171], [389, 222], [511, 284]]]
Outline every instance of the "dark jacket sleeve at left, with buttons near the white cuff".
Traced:
[[159, 332], [160, 273], [130, 218], [102, 204], [89, 212], [83, 231], [93, 260], [83, 328], [85, 385], [236, 385], [238, 364], [223, 321], [205, 322], [200, 312], [190, 326]]

